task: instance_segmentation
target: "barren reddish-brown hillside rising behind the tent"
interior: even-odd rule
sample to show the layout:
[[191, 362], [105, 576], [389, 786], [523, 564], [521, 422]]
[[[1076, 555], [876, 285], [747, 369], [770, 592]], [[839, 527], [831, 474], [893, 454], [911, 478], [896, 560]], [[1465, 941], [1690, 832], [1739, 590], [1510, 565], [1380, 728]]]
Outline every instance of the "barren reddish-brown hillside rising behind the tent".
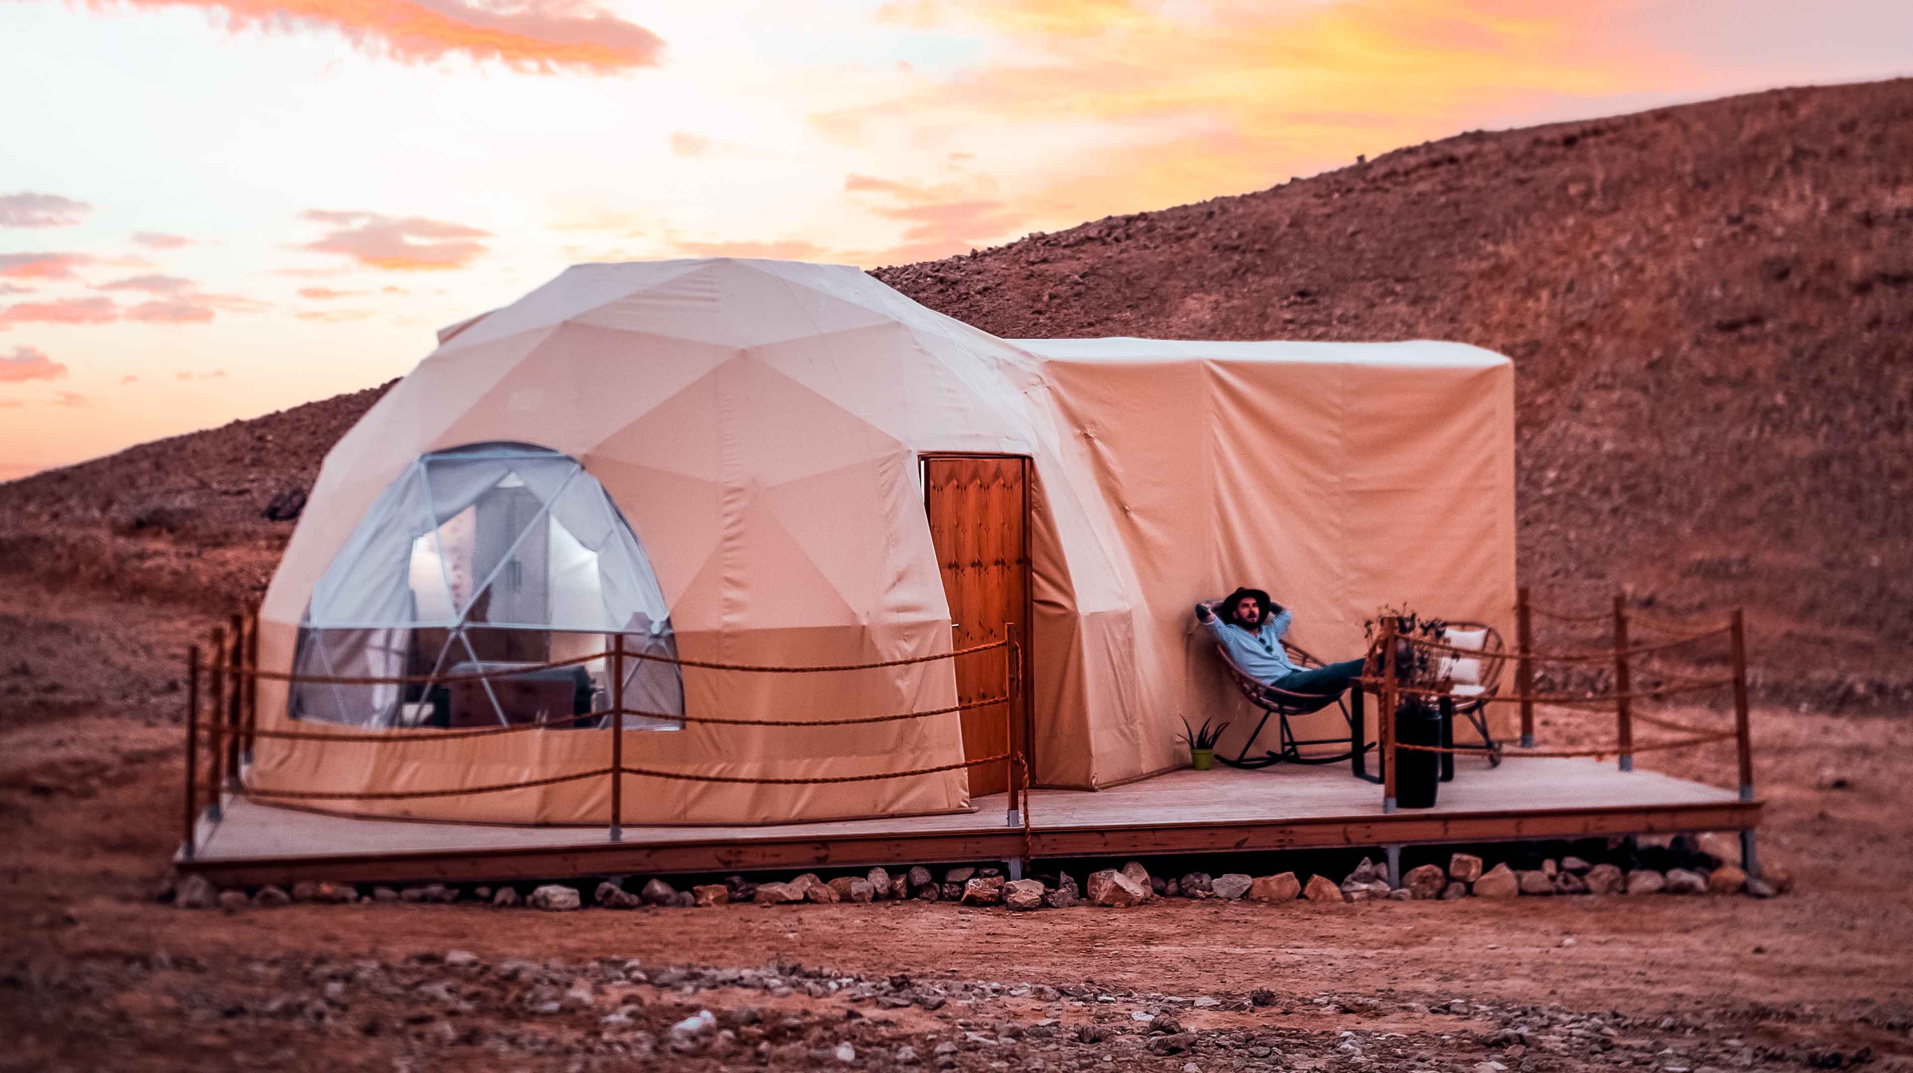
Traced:
[[[1540, 599], [1745, 604], [1770, 694], [1913, 696], [1913, 80], [1471, 132], [874, 275], [1002, 337], [1509, 354]], [[0, 572], [224, 610], [381, 392], [0, 484]]]

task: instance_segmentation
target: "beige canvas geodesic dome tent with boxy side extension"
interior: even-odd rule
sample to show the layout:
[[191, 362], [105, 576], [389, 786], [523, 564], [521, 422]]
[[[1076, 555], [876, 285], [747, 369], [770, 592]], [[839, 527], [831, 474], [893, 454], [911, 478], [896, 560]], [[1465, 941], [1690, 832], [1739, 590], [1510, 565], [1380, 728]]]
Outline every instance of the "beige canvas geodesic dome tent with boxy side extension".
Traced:
[[[1196, 599], [1261, 583], [1299, 610], [1303, 645], [1351, 658], [1383, 601], [1506, 624], [1513, 553], [1513, 369], [1477, 348], [1000, 340], [846, 266], [593, 264], [446, 329], [327, 455], [266, 597], [262, 664], [457, 679], [612, 635], [660, 656], [853, 664], [1008, 631], [1035, 780], [1098, 788], [1184, 763], [1182, 717], [1234, 712], [1190, 629]], [[633, 662], [626, 706], [647, 715], [626, 717], [626, 763], [834, 778], [1000, 752], [1000, 712], [696, 721], [947, 708], [999, 681], [1000, 664], [964, 660], [823, 675]], [[262, 738], [247, 778], [363, 794], [599, 771], [606, 679], [599, 660], [440, 689], [264, 683], [262, 729], [341, 738], [578, 719]], [[935, 813], [974, 788], [991, 784], [962, 769], [627, 775], [624, 819]], [[606, 778], [576, 778], [312, 803], [605, 822], [608, 798]]]

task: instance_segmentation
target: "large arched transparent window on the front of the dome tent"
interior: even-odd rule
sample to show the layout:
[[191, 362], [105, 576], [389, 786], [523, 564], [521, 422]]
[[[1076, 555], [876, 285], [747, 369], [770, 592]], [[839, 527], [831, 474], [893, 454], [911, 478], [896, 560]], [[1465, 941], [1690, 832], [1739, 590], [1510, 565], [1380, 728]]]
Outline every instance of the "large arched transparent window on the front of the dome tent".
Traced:
[[[379, 495], [314, 587], [295, 719], [352, 727], [553, 729], [610, 725], [616, 635], [677, 656], [658, 578], [631, 526], [578, 461], [528, 444], [476, 444], [411, 463]], [[474, 673], [501, 675], [474, 681]], [[626, 660], [629, 729], [679, 729], [677, 666]]]

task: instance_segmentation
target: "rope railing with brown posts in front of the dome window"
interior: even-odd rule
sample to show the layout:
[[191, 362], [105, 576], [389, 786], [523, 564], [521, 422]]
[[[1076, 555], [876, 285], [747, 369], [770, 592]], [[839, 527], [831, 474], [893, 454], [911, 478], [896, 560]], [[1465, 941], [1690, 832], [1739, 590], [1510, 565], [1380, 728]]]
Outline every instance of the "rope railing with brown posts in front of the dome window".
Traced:
[[[187, 652], [187, 719], [186, 719], [186, 740], [187, 740], [187, 771], [186, 771], [186, 840], [182, 853], [191, 857], [195, 851], [197, 822], [199, 813], [199, 761], [197, 746], [201, 742], [210, 744], [210, 771], [209, 788], [212, 801], [205, 809], [203, 817], [218, 822], [222, 819], [222, 796], [245, 796], [266, 801], [407, 801], [407, 799], [432, 799], [432, 798], [461, 798], [461, 796], [482, 796], [482, 794], [505, 794], [511, 790], [536, 790], [543, 786], [557, 786], [566, 782], [582, 782], [591, 778], [610, 778], [610, 838], [612, 842], [622, 840], [622, 799], [624, 799], [624, 777], [637, 778], [660, 778], [660, 780], [679, 780], [679, 782], [715, 782], [715, 784], [744, 784], [744, 786], [830, 786], [846, 782], [874, 782], [890, 778], [913, 778], [926, 775], [939, 775], [949, 771], [968, 771], [974, 767], [987, 767], [995, 763], [1004, 765], [1004, 784], [1008, 790], [1008, 822], [1023, 828], [1025, 851], [1031, 847], [1029, 834], [1029, 763], [1016, 748], [1014, 734], [1014, 708], [1022, 694], [1022, 662], [1020, 650], [1014, 641], [1014, 625], [1004, 624], [1004, 635], [1000, 641], [989, 641], [983, 645], [972, 645], [968, 648], [955, 648], [949, 652], [932, 652], [924, 656], [903, 656], [895, 660], [870, 660], [859, 664], [725, 664], [717, 660], [687, 660], [677, 656], [660, 656], [652, 652], [631, 652], [624, 646], [624, 635], [612, 635], [612, 646], [603, 652], [589, 652], [582, 656], [570, 656], [564, 660], [547, 660], [539, 664], [509, 664], [501, 668], [488, 668], [471, 673], [455, 675], [306, 675], [298, 671], [274, 671], [258, 666], [258, 612], [253, 610], [251, 616], [233, 616], [231, 631], [214, 629], [212, 631], [212, 658], [201, 662], [201, 650], [193, 645]], [[962, 700], [958, 704], [949, 704], [941, 708], [930, 708], [920, 712], [897, 712], [884, 715], [840, 715], [826, 719], [748, 719], [748, 717], [727, 717], [727, 715], [694, 715], [694, 713], [675, 713], [675, 712], [645, 712], [635, 708], [626, 708], [624, 704], [624, 662], [641, 660], [656, 664], [671, 664], [679, 668], [714, 669], [714, 671], [737, 671], [737, 673], [832, 673], [832, 671], [869, 671], [880, 668], [905, 668], [916, 664], [928, 664], [937, 660], [956, 660], [962, 656], [972, 656], [978, 652], [1004, 650], [1004, 675], [1002, 689], [985, 696], [972, 700]], [[524, 677], [538, 671], [574, 668], [593, 662], [610, 662], [610, 706], [597, 712], [568, 713], [557, 717], [528, 719], [524, 723], [505, 723], [499, 727], [394, 727], [385, 731], [312, 731], [312, 729], [281, 729], [281, 727], [260, 727], [258, 725], [258, 700], [256, 685], [260, 681], [279, 681], [287, 685], [453, 685], [453, 683], [484, 683], [484, 681], [503, 681]], [[210, 685], [210, 717], [201, 723], [201, 671], [207, 671], [207, 683]], [[228, 681], [231, 689], [228, 689]], [[953, 763], [939, 763], [928, 767], [913, 767], [909, 771], [878, 771], [863, 775], [813, 775], [813, 777], [744, 777], [744, 775], [712, 775], [696, 771], [666, 771], [643, 765], [631, 765], [624, 761], [624, 734], [626, 717], [637, 715], [647, 719], [664, 719], [679, 725], [712, 725], [712, 727], [769, 727], [769, 729], [815, 729], [815, 727], [863, 727], [878, 723], [899, 723], [911, 719], [930, 719], [939, 715], [956, 715], [964, 712], [976, 712], [983, 708], [1002, 708], [1004, 712], [1004, 752], [962, 759]], [[503, 715], [501, 715], [503, 719]], [[568, 729], [568, 731], [608, 731], [612, 746], [612, 761], [608, 767], [595, 767], [589, 771], [574, 771], [564, 775], [551, 775], [543, 778], [522, 778], [515, 782], [495, 782], [486, 786], [448, 786], [448, 788], [429, 788], [429, 790], [298, 790], [298, 788], [275, 788], [262, 786], [241, 778], [241, 757], [251, 757], [253, 742], [264, 740], [285, 740], [285, 742], [331, 742], [331, 744], [432, 744], [432, 742], [461, 742], [471, 738], [488, 738], [497, 734], [517, 734], [526, 731], [547, 731], [547, 729]], [[243, 742], [243, 746], [241, 746]], [[1018, 778], [1022, 775], [1022, 778]]]

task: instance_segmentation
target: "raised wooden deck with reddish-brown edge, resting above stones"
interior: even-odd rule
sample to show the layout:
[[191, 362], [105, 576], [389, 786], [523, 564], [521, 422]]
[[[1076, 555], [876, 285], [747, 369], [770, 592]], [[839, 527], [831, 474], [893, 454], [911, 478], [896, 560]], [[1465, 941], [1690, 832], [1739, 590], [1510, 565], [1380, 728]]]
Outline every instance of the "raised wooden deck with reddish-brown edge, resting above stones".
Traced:
[[[1175, 771], [1113, 790], [1031, 790], [1033, 857], [1108, 857], [1745, 830], [1760, 801], [1590, 759], [1465, 759], [1433, 809], [1381, 813], [1347, 767]], [[218, 884], [528, 880], [1023, 857], [1000, 794], [939, 817], [773, 826], [473, 826], [346, 819], [228, 799], [191, 859]]]

